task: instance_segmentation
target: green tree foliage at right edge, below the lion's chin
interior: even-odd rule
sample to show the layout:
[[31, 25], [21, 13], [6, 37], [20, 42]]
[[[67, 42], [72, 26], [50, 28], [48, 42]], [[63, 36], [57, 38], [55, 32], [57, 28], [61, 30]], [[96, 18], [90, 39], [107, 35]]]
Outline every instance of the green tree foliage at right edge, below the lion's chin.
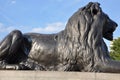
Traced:
[[120, 38], [113, 40], [110, 47], [110, 56], [114, 60], [120, 60]]

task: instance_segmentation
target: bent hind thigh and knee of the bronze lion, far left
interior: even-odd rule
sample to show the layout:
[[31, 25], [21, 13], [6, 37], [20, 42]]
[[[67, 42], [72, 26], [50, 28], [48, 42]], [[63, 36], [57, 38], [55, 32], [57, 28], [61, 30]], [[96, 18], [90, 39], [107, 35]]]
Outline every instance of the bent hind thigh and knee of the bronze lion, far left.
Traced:
[[8, 36], [6, 36], [0, 43], [0, 61], [9, 61], [11, 55], [16, 54], [20, 49], [22, 40], [22, 33], [18, 30], [14, 30], [8, 34]]

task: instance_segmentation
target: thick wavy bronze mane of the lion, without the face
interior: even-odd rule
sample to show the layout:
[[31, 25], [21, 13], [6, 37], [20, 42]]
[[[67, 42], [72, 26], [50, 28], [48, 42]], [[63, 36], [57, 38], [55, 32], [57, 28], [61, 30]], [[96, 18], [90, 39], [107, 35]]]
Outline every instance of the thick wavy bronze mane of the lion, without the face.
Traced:
[[58, 51], [64, 53], [61, 56], [79, 65], [79, 70], [98, 71], [96, 62], [109, 57], [102, 34], [105, 21], [101, 17], [99, 4], [89, 3], [73, 14], [58, 36]]

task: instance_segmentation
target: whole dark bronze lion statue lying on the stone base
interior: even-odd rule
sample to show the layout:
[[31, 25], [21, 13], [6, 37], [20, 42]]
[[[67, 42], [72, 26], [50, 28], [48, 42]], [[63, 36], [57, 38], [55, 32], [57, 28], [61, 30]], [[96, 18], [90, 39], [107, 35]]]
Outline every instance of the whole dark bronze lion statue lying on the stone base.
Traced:
[[9, 33], [0, 43], [0, 69], [120, 72], [103, 40], [113, 40], [116, 27], [99, 3], [90, 2], [59, 33]]

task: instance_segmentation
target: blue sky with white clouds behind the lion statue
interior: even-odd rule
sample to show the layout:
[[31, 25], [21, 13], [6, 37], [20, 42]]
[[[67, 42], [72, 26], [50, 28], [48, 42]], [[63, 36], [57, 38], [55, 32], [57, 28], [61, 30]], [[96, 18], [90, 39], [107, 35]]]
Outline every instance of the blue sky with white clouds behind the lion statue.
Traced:
[[15, 29], [57, 33], [73, 13], [91, 1], [99, 2], [103, 12], [118, 24], [114, 38], [120, 37], [120, 0], [0, 0], [0, 41]]

